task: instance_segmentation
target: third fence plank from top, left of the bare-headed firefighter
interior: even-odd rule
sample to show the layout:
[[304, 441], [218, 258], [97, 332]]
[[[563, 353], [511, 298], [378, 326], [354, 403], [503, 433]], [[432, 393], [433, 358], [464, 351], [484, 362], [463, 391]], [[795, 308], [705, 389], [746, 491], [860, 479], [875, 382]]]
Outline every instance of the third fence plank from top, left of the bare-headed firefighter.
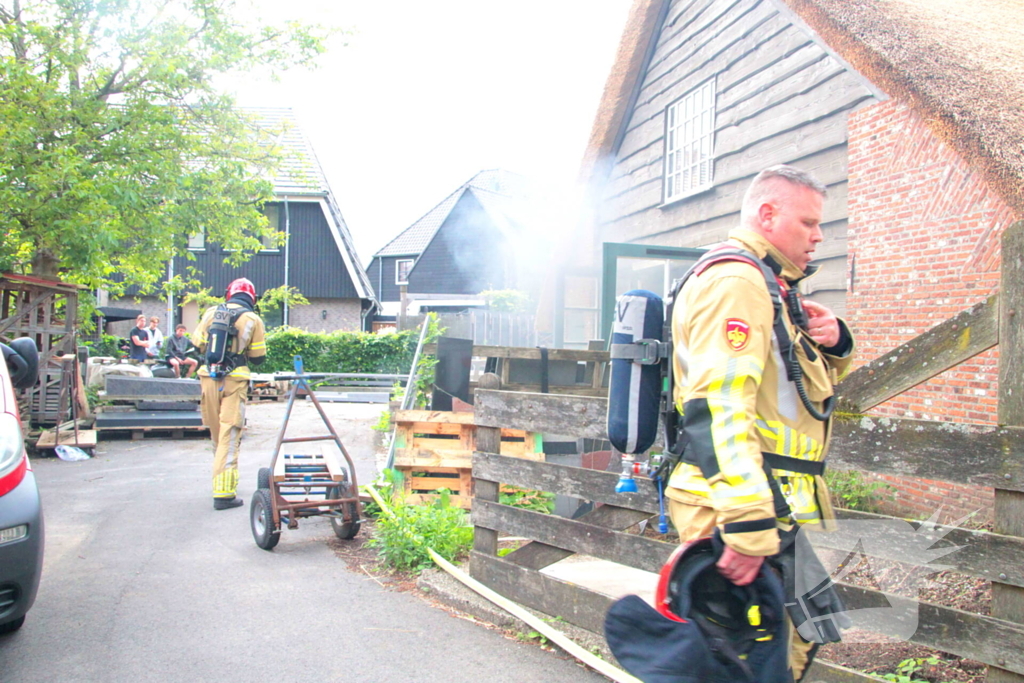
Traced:
[[653, 572], [662, 569], [677, 548], [674, 543], [486, 501], [474, 502], [473, 523], [508, 529], [510, 533], [549, 546]]

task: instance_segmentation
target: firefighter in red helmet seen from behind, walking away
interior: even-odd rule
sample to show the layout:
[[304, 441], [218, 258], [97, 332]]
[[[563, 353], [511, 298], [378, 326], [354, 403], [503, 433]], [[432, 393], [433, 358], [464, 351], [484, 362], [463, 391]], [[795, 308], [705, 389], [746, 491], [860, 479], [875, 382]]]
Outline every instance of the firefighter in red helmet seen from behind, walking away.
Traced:
[[[236, 492], [239, 485], [239, 450], [249, 394], [249, 366], [259, 366], [266, 358], [263, 321], [253, 311], [256, 288], [245, 278], [240, 278], [227, 286], [224, 298], [233, 317], [228, 362], [223, 368], [212, 369], [212, 372], [209, 364], [204, 364], [199, 370], [203, 389], [203, 424], [210, 429], [213, 440], [215, 510], [236, 508], [244, 502], [236, 496]], [[204, 356], [216, 311], [217, 307], [211, 307], [193, 333], [193, 343]], [[224, 371], [223, 377], [218, 377], [218, 370]]]

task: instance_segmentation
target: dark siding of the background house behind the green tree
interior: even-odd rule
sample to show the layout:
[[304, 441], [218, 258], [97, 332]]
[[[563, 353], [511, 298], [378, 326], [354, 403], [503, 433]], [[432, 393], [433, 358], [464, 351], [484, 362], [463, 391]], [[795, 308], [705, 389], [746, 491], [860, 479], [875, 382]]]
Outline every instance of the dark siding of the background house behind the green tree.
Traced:
[[[285, 206], [279, 204], [281, 229], [285, 229]], [[288, 204], [290, 225], [289, 285], [297, 287], [307, 299], [355, 298], [355, 287], [338, 245], [331, 234], [327, 218], [318, 203]], [[236, 278], [253, 281], [258, 292], [285, 284], [285, 249], [254, 254], [246, 263], [234, 268], [224, 264], [225, 252], [219, 245], [207, 243], [204, 251], [193, 252], [195, 261], [175, 259], [175, 272], [184, 272], [188, 265], [202, 273], [204, 287], [222, 292]]]

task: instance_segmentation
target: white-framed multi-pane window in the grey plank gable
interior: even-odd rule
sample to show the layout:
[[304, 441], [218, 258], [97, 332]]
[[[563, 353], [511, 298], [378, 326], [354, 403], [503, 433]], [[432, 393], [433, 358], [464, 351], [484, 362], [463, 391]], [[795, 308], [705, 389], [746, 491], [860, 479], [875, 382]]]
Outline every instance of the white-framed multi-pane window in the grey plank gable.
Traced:
[[715, 79], [677, 99], [666, 111], [665, 201], [712, 184], [715, 174]]

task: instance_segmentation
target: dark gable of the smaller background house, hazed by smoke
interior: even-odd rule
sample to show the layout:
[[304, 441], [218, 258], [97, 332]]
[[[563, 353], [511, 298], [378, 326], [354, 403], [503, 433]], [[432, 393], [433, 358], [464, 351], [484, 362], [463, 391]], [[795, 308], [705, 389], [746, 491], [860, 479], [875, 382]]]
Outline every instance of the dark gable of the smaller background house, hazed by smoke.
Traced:
[[424, 294], [479, 294], [505, 289], [513, 272], [505, 238], [467, 191], [420, 255], [409, 278], [409, 291]]

